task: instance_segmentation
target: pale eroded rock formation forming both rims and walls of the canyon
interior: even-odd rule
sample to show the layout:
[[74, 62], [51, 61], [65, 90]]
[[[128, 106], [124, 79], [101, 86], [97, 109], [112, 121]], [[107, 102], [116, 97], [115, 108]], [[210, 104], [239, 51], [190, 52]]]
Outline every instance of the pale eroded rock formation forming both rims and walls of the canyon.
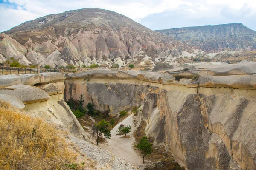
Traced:
[[[244, 63], [248, 68], [241, 72]], [[0, 94], [15, 96], [25, 104], [25, 111], [47, 115], [45, 119], [82, 137], [86, 134], [62, 99], [62, 92], [66, 101], [76, 102], [84, 94], [84, 105], [92, 102], [111, 116], [140, 105], [142, 119], [147, 122], [146, 135], [154, 139], [155, 146], [164, 146], [181, 166], [189, 170], [255, 170], [253, 64], [227, 65], [216, 69], [218, 73], [212, 70], [215, 75], [201, 77], [205, 70], [194, 67], [166, 73], [91, 69], [63, 77], [59, 74], [56, 79], [53, 74], [20, 75], [23, 81], [19, 76], [0, 76], [0, 86], [5, 87]], [[237, 70], [235, 75], [233, 70]], [[31, 86], [33, 83], [37, 87]]]

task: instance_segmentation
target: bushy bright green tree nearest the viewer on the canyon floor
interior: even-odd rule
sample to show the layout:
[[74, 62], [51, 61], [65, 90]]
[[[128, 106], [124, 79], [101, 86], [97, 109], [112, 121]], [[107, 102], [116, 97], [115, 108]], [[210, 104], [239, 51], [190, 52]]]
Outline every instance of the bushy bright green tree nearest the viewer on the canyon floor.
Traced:
[[148, 142], [147, 136], [142, 137], [142, 139], [139, 141], [139, 144], [137, 144], [135, 147], [137, 147], [142, 153], [143, 163], [145, 163], [145, 156], [150, 155], [153, 152], [152, 144]]

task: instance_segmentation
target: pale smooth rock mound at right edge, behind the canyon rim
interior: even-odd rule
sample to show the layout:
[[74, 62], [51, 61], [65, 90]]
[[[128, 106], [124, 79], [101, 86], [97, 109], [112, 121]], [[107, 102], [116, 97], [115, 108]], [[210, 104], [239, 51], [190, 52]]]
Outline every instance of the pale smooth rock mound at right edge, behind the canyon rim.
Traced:
[[201, 71], [200, 76], [228, 76], [228, 75], [244, 75], [256, 74], [256, 62], [248, 62], [246, 60], [238, 64], [230, 64], [223, 67], [217, 67]]

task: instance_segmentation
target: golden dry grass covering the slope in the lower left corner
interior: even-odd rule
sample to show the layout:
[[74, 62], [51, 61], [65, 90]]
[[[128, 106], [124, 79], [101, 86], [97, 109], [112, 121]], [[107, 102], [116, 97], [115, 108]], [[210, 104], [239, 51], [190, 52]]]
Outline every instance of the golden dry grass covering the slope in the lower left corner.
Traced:
[[93, 166], [70, 149], [64, 133], [0, 101], [0, 169], [71, 170]]

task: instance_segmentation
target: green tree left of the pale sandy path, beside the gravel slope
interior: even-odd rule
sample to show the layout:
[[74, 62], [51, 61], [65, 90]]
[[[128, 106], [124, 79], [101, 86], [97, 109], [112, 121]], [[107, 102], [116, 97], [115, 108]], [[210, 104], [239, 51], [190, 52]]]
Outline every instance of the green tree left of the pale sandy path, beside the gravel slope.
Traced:
[[99, 137], [104, 135], [106, 138], [111, 138], [111, 131], [108, 129], [110, 124], [103, 119], [102, 121], [93, 125], [93, 136], [97, 135], [97, 146], [99, 144]]

